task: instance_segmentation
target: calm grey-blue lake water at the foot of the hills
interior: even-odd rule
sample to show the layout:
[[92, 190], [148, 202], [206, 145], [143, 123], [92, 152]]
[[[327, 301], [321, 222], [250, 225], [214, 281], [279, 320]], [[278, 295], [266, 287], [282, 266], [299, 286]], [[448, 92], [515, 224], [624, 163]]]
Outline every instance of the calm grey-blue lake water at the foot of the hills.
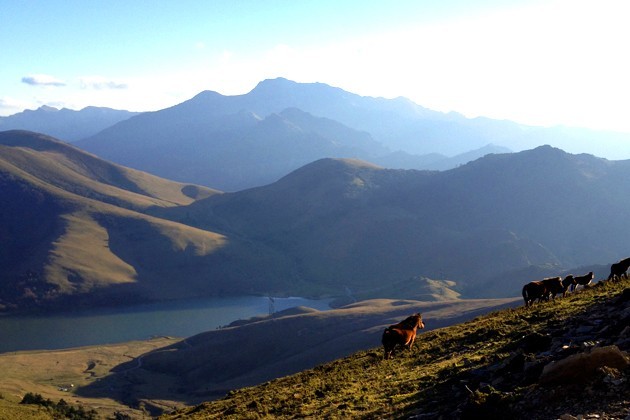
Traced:
[[[330, 309], [328, 300], [274, 298], [276, 311], [295, 306]], [[230, 322], [269, 313], [269, 298], [243, 296], [196, 299], [46, 316], [0, 317], [0, 353], [62, 349], [144, 340], [189, 337]]]

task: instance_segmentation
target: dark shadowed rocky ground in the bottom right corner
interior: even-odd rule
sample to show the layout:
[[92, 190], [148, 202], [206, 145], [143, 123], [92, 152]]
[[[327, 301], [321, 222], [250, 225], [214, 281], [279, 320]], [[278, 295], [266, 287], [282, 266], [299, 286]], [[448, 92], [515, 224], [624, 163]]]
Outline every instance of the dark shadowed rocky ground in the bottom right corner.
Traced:
[[470, 373], [458, 416], [630, 419], [630, 289], [509, 350]]

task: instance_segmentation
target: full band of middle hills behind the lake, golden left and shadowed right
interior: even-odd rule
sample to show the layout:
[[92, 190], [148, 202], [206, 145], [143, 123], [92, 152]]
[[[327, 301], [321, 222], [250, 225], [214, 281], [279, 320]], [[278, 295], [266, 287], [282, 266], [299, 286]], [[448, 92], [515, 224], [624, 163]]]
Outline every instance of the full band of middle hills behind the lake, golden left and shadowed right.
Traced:
[[570, 269], [601, 278], [627, 253], [629, 167], [550, 146], [442, 172], [321, 159], [222, 193], [2, 132], [0, 304], [418, 298], [431, 281], [433, 296], [503, 297]]

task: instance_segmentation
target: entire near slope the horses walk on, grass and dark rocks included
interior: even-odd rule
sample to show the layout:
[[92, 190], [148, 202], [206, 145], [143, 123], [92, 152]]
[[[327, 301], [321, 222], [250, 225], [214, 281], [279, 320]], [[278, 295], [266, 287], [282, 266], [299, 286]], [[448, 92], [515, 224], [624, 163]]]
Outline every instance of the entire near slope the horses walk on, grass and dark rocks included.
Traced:
[[[163, 418], [626, 418], [630, 359], [609, 346], [630, 350], [628, 287], [602, 282], [493, 312], [421, 333], [393, 360], [380, 348], [358, 352]], [[589, 358], [602, 353], [603, 363]], [[575, 359], [564, 376], [548, 373]]]

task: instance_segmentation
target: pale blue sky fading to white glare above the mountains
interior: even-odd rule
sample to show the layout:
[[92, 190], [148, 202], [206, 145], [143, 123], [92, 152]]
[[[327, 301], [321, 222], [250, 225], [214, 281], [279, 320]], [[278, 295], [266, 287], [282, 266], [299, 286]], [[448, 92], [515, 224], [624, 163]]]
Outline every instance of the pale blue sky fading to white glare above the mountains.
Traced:
[[630, 132], [625, 0], [0, 0], [0, 115], [151, 111], [268, 78]]

